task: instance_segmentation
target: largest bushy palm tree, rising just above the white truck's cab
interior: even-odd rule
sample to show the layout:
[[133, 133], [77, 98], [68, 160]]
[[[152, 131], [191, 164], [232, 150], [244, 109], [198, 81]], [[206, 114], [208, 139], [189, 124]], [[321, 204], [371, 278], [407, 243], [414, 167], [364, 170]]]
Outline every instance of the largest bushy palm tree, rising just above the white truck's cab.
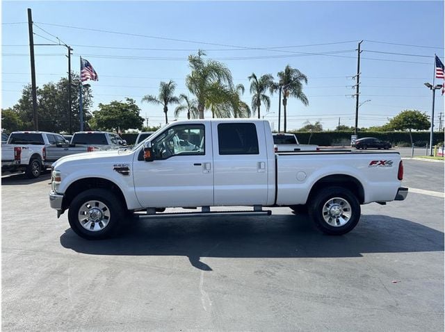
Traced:
[[198, 51], [197, 56], [188, 56], [192, 72], [186, 76], [186, 85], [197, 99], [200, 119], [204, 119], [204, 109], [210, 105], [213, 105], [213, 108], [220, 108], [217, 104], [227, 101], [231, 95], [227, 92], [233, 89], [234, 84], [232, 73], [223, 63], [204, 61], [201, 56], [205, 56], [203, 51]]

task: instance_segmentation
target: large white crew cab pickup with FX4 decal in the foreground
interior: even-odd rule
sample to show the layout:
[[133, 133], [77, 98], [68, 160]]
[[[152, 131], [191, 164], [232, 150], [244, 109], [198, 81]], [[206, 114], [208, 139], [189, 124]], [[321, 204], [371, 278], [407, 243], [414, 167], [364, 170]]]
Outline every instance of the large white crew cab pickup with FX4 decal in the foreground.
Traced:
[[58, 217], [68, 210], [71, 228], [87, 239], [117, 234], [136, 211], [145, 217], [172, 217], [162, 212], [168, 207], [200, 207], [184, 216], [227, 213], [218, 206], [252, 207], [229, 212], [236, 215], [307, 207], [321, 231], [340, 235], [359, 221], [360, 204], [407, 196], [398, 152], [275, 153], [273, 145], [261, 119], [177, 121], [131, 150], [60, 158], [50, 206]]

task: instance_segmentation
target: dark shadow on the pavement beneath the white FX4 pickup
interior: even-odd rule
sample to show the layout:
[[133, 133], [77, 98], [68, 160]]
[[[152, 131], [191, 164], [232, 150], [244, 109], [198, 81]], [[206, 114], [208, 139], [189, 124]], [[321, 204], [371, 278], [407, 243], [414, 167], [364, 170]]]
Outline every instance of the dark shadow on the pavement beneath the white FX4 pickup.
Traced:
[[444, 251], [444, 233], [385, 215], [363, 215], [357, 227], [342, 236], [317, 231], [307, 215], [202, 217], [135, 219], [119, 238], [110, 240], [83, 240], [67, 229], [60, 244], [89, 255], [187, 256], [197, 269], [211, 271], [200, 258], [348, 258]]

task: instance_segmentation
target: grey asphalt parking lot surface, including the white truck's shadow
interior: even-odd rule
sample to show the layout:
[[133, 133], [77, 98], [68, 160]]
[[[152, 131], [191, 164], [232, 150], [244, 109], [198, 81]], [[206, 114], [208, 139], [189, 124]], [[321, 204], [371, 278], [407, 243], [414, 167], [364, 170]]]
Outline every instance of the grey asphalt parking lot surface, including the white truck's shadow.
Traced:
[[404, 163], [423, 193], [339, 237], [272, 208], [88, 241], [49, 208], [49, 174], [2, 176], [2, 330], [444, 331], [444, 163]]

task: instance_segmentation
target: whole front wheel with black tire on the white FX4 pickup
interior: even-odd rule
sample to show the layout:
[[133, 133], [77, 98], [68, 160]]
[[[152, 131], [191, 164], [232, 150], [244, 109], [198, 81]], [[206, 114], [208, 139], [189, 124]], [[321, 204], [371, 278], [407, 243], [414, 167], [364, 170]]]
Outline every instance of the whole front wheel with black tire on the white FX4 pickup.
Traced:
[[[72, 200], [68, 221], [72, 230], [87, 240], [112, 238], [120, 231], [127, 209], [114, 194], [104, 189], [88, 189]], [[85, 215], [81, 220], [79, 215]], [[87, 217], [88, 216], [88, 217]]]

